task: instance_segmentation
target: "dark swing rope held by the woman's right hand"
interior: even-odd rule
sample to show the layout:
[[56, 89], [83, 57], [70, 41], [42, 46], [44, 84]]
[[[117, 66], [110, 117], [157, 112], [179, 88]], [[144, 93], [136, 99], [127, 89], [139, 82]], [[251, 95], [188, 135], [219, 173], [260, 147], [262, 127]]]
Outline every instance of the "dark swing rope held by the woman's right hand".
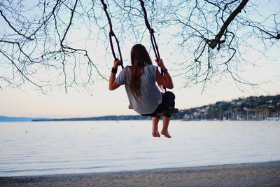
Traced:
[[[139, 1], [140, 1], [140, 4], [141, 4], [141, 7], [142, 7], [142, 11], [144, 12], [145, 25], [150, 32], [151, 43], [152, 43], [152, 46], [153, 46], [153, 51], [155, 53], [155, 58], [156, 58], [156, 60], [160, 60], [160, 52], [158, 51], [158, 45], [157, 45], [157, 42], [155, 41], [155, 34], [154, 34], [155, 30], [151, 28], [151, 25], [148, 22], [148, 16], [147, 16], [147, 11], [146, 11], [146, 8], [145, 8], [144, 1], [143, 0], [139, 0]], [[165, 73], [162, 70], [161, 70], [161, 74], [162, 74], [162, 76], [165, 76]], [[165, 89], [165, 92], [166, 92], [166, 88], [165, 87], [163, 87], [163, 88]]]

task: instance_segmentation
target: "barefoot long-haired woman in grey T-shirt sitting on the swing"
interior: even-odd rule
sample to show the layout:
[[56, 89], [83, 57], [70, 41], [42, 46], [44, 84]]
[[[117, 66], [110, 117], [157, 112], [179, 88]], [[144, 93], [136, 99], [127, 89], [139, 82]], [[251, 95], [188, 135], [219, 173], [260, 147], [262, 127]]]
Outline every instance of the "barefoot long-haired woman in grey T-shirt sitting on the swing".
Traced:
[[[158, 67], [165, 73], [160, 74], [158, 67], [154, 66], [148, 51], [141, 44], [132, 47], [132, 66], [125, 67], [116, 78], [120, 60], [114, 60], [109, 80], [109, 90], [115, 90], [120, 85], [125, 85], [127, 97], [134, 111], [142, 116], [151, 116], [153, 121], [153, 137], [160, 134], [171, 138], [168, 125], [171, 118], [169, 107], [174, 108], [175, 95], [172, 92], [162, 94], [156, 85], [172, 89], [173, 82], [162, 59], [155, 60]], [[162, 130], [158, 132], [158, 122], [162, 114]]]

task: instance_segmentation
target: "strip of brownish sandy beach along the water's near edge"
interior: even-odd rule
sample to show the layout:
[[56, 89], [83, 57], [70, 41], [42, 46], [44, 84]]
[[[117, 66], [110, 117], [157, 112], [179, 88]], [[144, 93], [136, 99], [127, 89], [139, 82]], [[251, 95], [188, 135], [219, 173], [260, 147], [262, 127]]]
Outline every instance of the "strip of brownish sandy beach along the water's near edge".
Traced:
[[133, 172], [0, 177], [0, 186], [280, 186], [280, 161]]

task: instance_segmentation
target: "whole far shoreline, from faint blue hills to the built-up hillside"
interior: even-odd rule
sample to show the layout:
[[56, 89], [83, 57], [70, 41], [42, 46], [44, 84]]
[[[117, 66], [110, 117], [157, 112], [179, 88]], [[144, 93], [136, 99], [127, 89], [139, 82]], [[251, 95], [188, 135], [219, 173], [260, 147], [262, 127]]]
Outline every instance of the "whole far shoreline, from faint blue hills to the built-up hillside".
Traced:
[[[251, 96], [230, 102], [216, 102], [191, 109], [179, 109], [175, 120], [279, 120], [280, 95]], [[141, 115], [99, 116], [90, 118], [10, 118], [0, 116], [0, 121], [67, 121], [67, 120], [150, 120]]]

